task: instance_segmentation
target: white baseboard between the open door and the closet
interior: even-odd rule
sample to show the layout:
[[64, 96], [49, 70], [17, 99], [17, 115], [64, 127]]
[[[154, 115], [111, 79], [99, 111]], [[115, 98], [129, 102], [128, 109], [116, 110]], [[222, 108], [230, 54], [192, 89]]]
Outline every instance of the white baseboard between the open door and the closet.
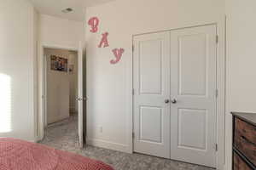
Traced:
[[92, 146], [100, 147], [100, 148], [105, 148], [108, 150], [117, 150], [117, 151], [122, 151], [126, 153], [132, 153], [132, 150], [130, 150], [130, 147], [125, 144], [118, 144], [118, 143], [113, 143], [107, 140], [102, 140], [102, 139], [86, 139], [86, 143]]

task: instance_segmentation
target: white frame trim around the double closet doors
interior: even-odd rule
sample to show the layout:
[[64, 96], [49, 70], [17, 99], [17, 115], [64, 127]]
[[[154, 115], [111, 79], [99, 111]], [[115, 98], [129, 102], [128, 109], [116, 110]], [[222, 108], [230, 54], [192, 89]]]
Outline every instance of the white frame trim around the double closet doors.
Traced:
[[[187, 26], [187, 27], [180, 27], [180, 28], [174, 28], [169, 30], [162, 30], [162, 31], [175, 31], [175, 30], [182, 30], [186, 28], [194, 28], [199, 26], [216, 26], [216, 34], [218, 35], [218, 44], [217, 44], [217, 52], [216, 52], [216, 87], [218, 89], [218, 98], [216, 99], [216, 132], [217, 132], [217, 139], [216, 143], [218, 144], [218, 150], [216, 151], [216, 168], [217, 169], [224, 169], [225, 164], [225, 83], [226, 83], [226, 27], [225, 27], [225, 16], [221, 17], [221, 19], [218, 20], [218, 22], [212, 22], [202, 25], [196, 25], [196, 26]], [[134, 81], [134, 68], [133, 68], [133, 62], [134, 62], [134, 37], [141, 36], [145, 34], [151, 34], [151, 33], [158, 33], [162, 31], [151, 31], [141, 34], [133, 34], [131, 37], [131, 44], [132, 44], [132, 59], [131, 59], [131, 89], [129, 89], [130, 92], [133, 90], [133, 81]], [[132, 153], [134, 151], [133, 149], [133, 123], [134, 123], [134, 96], [131, 93], [131, 117], [128, 122], [128, 140], [130, 145], [130, 152]], [[129, 98], [130, 99], [130, 98]], [[130, 111], [130, 110], [128, 110]]]

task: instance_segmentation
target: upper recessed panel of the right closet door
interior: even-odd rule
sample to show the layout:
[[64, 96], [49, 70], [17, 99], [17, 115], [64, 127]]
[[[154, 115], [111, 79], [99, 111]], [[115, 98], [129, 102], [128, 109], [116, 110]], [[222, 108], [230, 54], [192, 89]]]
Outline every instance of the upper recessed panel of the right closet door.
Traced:
[[179, 95], [207, 94], [207, 35], [178, 37]]

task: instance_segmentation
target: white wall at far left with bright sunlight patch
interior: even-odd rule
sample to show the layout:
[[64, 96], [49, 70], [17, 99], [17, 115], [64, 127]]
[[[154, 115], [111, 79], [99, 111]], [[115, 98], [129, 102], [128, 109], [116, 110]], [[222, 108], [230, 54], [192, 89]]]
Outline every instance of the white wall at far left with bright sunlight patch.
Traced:
[[37, 13], [26, 0], [0, 4], [0, 137], [34, 141]]

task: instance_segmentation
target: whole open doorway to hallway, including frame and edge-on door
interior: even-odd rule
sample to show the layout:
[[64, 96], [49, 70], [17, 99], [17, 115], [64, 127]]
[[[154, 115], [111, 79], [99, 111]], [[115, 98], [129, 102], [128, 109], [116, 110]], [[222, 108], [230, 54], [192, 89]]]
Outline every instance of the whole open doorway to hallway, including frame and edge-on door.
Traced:
[[[42, 47], [39, 65], [38, 141], [84, 144], [83, 50]], [[67, 141], [68, 140], [68, 141]], [[54, 143], [53, 143], [54, 144]], [[54, 147], [54, 145], [53, 145]]]

